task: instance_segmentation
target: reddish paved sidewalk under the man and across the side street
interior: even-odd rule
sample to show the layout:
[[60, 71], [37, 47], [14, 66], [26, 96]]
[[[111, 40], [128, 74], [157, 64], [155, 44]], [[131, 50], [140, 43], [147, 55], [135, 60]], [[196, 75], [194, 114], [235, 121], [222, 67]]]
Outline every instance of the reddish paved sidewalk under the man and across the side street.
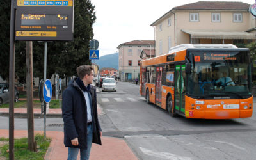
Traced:
[[[34, 115], [41, 115], [41, 109], [33, 109]], [[0, 116], [8, 116], [8, 108], [0, 108]], [[26, 108], [15, 108], [15, 116], [25, 116], [26, 118]], [[98, 108], [99, 115], [102, 114], [101, 108]], [[47, 116], [61, 117], [61, 109], [49, 109]], [[43, 115], [42, 115], [43, 116]], [[44, 131], [35, 131], [36, 133], [44, 134]], [[25, 130], [15, 130], [15, 138], [27, 137], [27, 131]], [[0, 138], [8, 138], [9, 132], [6, 129], [0, 129]], [[46, 160], [63, 160], [67, 159], [68, 149], [63, 144], [63, 132], [61, 131], [47, 131], [46, 136], [52, 139], [51, 144], [45, 154], [44, 159]], [[78, 156], [77, 159], [80, 159]], [[102, 145], [92, 145], [91, 160], [135, 160], [138, 159], [132, 150], [128, 147], [123, 139], [105, 137], [103, 132]]]

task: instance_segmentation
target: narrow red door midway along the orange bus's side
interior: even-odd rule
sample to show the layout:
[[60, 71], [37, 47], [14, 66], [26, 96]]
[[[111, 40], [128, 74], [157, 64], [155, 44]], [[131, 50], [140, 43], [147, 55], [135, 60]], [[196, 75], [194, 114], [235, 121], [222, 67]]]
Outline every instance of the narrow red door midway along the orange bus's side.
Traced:
[[156, 104], [161, 106], [162, 99], [162, 67], [156, 67]]

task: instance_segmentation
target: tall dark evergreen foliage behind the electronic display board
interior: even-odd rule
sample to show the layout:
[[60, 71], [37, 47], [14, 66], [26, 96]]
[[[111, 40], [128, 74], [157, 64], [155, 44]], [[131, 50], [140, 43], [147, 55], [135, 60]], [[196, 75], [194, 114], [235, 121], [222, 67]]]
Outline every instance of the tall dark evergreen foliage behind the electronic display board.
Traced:
[[[10, 36], [10, 3], [1, 1], [0, 15], [0, 76], [8, 79], [9, 73], [9, 36]], [[74, 1], [74, 38], [72, 41], [59, 41], [47, 44], [47, 78], [58, 73], [60, 77], [76, 75], [79, 65], [90, 65], [89, 42], [93, 38], [93, 23], [96, 20], [95, 6], [90, 0]], [[26, 45], [16, 41], [15, 75], [20, 83], [26, 81]], [[44, 77], [44, 43], [33, 42], [33, 76]]]

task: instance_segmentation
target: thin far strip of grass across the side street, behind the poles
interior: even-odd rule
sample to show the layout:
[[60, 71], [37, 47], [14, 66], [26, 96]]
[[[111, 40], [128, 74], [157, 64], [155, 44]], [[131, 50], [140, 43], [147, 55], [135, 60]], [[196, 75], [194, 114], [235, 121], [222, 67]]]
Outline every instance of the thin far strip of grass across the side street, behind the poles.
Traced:
[[[62, 100], [60, 100], [62, 104]], [[50, 108], [60, 108], [59, 100], [52, 99], [50, 102]], [[26, 100], [20, 100], [19, 102], [14, 103], [14, 108], [27, 108]], [[33, 100], [33, 107], [34, 108], [41, 108], [40, 100]], [[9, 104], [2, 104], [0, 108], [9, 108]]]

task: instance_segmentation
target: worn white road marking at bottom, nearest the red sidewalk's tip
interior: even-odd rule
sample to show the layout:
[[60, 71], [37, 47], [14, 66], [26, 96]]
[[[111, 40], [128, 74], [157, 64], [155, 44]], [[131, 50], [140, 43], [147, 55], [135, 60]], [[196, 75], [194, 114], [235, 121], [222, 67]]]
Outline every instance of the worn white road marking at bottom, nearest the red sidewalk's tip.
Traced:
[[140, 148], [141, 152], [143, 152], [144, 154], [147, 154], [149, 156], [158, 157], [159, 159], [163, 158], [163, 159], [172, 159], [172, 160], [191, 160], [191, 158], [189, 158], [189, 157], [182, 157], [182, 156], [179, 156], [176, 154], [171, 154], [168, 152], [154, 152], [153, 150], [149, 150], [146, 148], [142, 148], [142, 147], [139, 147], [139, 148]]

